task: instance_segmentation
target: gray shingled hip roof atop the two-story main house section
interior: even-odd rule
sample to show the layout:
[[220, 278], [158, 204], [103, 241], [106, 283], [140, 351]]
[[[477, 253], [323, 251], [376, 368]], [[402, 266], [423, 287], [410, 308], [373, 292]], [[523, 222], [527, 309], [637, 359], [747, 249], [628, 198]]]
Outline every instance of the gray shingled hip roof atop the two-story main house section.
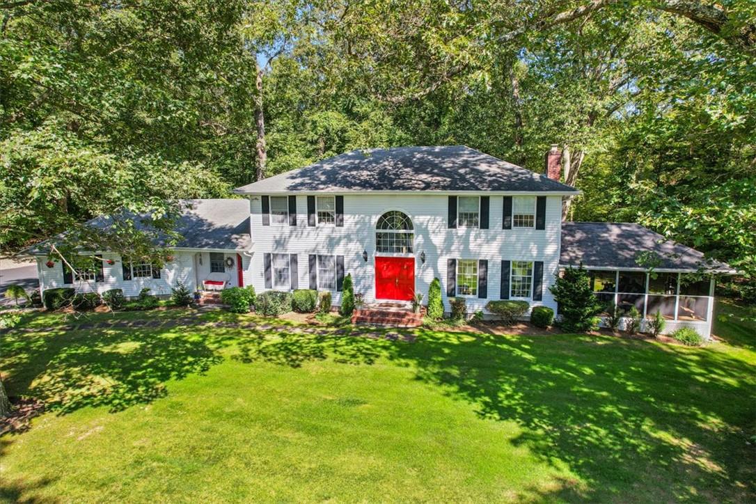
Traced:
[[234, 190], [240, 194], [315, 191], [578, 193], [546, 175], [461, 145], [352, 150]]

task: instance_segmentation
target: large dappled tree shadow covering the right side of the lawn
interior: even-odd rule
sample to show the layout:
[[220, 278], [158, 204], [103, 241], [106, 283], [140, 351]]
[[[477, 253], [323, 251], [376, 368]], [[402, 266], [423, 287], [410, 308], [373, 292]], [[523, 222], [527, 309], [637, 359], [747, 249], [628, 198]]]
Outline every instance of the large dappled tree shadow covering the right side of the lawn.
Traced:
[[[748, 500], [754, 497], [754, 368], [719, 351], [611, 337], [418, 332], [414, 344], [345, 336], [284, 336], [240, 346], [240, 360], [299, 367], [308, 360], [383, 357], [469, 401], [479, 416], [512, 420], [513, 443], [565, 462], [544, 499]], [[750, 402], [749, 402], [750, 401]]]

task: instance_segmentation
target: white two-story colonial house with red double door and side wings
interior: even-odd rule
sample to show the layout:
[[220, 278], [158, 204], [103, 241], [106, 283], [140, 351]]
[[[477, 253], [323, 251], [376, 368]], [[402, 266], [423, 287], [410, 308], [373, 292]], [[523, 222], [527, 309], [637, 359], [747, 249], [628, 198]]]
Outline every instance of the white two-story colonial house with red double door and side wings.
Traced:
[[[552, 148], [541, 175], [462, 146], [355, 150], [234, 190], [243, 199], [189, 202], [177, 225], [184, 240], [160, 269], [101, 251], [102, 267], [75, 278], [39, 247], [40, 285], [129, 296], [144, 286], [167, 294], [179, 281], [318, 289], [339, 305], [346, 274], [368, 304], [427, 295], [438, 278], [447, 310], [463, 297], [469, 313], [494, 299], [556, 311], [556, 275], [584, 264], [600, 298], [708, 336], [713, 274], [735, 272], [637, 224], [562, 222], [562, 200], [578, 190], [559, 182], [559, 159]], [[711, 275], [700, 281], [701, 271]], [[699, 281], [681, 276], [693, 273]]]

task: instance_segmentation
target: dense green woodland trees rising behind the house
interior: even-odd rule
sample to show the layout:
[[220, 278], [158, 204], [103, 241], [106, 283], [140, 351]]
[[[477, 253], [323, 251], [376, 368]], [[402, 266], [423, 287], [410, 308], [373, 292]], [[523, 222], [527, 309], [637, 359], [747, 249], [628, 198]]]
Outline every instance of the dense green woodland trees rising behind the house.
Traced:
[[0, 247], [346, 150], [466, 144], [756, 274], [749, 0], [0, 4]]

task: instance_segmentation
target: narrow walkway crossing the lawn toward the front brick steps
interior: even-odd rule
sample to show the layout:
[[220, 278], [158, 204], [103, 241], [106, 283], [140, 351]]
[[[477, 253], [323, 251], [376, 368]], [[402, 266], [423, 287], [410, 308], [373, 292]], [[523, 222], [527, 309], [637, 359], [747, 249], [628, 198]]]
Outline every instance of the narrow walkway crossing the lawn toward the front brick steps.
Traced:
[[88, 329], [172, 329], [178, 326], [187, 327], [216, 327], [224, 329], [248, 329], [252, 331], [275, 331], [287, 332], [290, 334], [312, 334], [312, 335], [330, 335], [330, 336], [357, 336], [370, 339], [388, 339], [390, 341], [414, 342], [415, 335], [406, 332], [372, 330], [365, 328], [359, 329], [328, 329], [318, 326], [282, 326], [266, 323], [236, 323], [223, 320], [197, 320], [195, 317], [180, 317], [169, 320], [103, 320], [100, 322], [82, 322], [68, 323], [61, 326], [51, 327], [16, 327], [13, 330], [17, 332], [52, 332], [52, 331], [73, 331]]

